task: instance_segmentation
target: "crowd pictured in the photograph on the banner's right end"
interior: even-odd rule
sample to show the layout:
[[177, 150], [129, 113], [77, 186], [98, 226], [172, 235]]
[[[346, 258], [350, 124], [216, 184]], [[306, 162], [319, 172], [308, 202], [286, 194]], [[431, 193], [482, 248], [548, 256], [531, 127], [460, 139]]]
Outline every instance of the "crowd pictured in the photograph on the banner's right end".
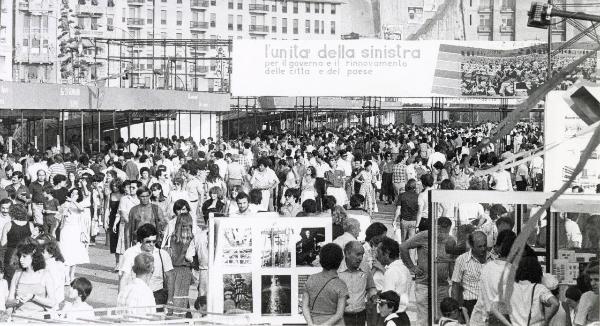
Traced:
[[[577, 57], [558, 53], [553, 57], [553, 75]], [[548, 58], [545, 54], [527, 54], [511, 57], [466, 57], [461, 64], [461, 89], [471, 96], [527, 97], [547, 79]], [[579, 79], [593, 80], [596, 58], [584, 61], [579, 69], [565, 78], [559, 89], [566, 90]]]

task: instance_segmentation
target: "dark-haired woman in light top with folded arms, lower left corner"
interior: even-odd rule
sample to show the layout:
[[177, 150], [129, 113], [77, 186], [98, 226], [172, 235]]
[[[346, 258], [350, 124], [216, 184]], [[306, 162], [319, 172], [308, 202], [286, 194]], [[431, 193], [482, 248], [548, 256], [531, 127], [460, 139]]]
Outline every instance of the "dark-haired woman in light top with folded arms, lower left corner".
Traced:
[[54, 307], [56, 289], [52, 277], [45, 270], [46, 262], [37, 244], [19, 245], [16, 255], [19, 270], [12, 278], [6, 306], [25, 315]]

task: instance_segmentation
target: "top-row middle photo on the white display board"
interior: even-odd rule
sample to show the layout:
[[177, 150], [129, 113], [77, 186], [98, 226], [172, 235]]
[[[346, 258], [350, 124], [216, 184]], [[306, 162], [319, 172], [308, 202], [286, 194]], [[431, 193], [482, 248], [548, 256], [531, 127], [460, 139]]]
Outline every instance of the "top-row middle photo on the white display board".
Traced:
[[290, 251], [292, 228], [270, 228], [260, 233], [262, 241], [261, 267], [292, 267]]

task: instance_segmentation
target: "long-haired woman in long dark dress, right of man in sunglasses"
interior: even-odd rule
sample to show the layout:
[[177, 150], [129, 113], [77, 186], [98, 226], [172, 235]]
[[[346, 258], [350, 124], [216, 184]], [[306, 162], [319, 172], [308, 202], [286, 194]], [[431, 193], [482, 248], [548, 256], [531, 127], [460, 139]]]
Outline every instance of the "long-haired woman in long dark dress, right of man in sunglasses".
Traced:
[[[195, 226], [192, 216], [189, 213], [189, 204], [185, 201], [176, 202], [174, 205], [174, 227], [166, 233], [163, 241], [163, 247], [169, 248], [171, 261], [173, 262], [173, 274], [169, 278], [171, 284], [169, 289], [173, 289], [173, 293], [169, 293], [168, 303], [176, 307], [188, 308], [188, 295], [190, 284], [192, 283], [192, 264], [185, 259], [185, 254], [194, 238]], [[172, 226], [173, 223], [169, 223]], [[169, 229], [169, 227], [167, 227]]]

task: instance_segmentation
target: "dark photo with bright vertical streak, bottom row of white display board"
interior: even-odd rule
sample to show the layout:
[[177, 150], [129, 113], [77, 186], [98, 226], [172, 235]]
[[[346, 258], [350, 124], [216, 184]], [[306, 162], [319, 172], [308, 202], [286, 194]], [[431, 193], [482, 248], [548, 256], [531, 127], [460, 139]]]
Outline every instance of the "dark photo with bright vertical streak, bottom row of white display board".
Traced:
[[263, 275], [261, 277], [261, 314], [289, 315], [292, 313], [292, 276]]

